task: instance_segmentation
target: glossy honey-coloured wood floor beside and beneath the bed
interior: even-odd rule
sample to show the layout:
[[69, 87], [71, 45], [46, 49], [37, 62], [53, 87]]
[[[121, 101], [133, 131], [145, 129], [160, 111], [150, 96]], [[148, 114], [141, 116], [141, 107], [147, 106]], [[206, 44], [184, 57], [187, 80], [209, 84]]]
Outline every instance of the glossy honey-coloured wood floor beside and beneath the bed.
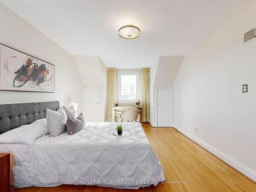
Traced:
[[[211, 155], [173, 128], [143, 128], [164, 169], [166, 180], [184, 180], [186, 184], [158, 184], [130, 191], [256, 191], [256, 184]], [[128, 191], [97, 186], [60, 185], [26, 187], [11, 192]]]

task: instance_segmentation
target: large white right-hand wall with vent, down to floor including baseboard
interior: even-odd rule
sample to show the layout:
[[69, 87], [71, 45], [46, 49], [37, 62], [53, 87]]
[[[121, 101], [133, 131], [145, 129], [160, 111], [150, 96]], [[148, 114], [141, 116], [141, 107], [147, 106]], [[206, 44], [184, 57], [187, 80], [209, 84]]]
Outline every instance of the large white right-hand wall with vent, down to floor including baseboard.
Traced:
[[256, 40], [243, 45], [254, 18], [255, 6], [184, 58], [174, 83], [174, 123], [256, 181]]

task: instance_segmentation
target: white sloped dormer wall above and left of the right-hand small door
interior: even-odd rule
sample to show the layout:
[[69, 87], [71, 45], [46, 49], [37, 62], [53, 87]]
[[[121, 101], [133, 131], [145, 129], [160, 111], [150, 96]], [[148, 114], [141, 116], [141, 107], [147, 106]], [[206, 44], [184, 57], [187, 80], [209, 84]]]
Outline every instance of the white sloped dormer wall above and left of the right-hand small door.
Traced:
[[156, 89], [173, 87], [183, 58], [184, 56], [160, 56], [150, 68], [150, 123], [152, 126], [156, 126]]

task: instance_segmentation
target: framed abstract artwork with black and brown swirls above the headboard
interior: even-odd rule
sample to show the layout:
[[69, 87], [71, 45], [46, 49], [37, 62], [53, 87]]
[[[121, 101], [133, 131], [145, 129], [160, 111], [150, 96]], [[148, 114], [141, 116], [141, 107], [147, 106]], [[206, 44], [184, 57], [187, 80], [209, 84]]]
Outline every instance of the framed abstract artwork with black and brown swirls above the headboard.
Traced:
[[55, 92], [55, 66], [0, 44], [0, 90]]

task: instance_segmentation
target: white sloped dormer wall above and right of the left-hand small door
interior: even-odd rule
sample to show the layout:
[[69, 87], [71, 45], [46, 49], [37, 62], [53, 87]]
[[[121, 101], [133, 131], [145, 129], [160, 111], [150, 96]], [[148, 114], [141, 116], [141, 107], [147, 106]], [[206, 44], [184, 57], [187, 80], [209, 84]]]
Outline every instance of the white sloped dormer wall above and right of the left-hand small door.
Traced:
[[100, 121], [106, 121], [106, 87], [108, 82], [106, 66], [98, 56], [76, 55], [73, 57], [81, 76], [83, 87], [100, 88]]

